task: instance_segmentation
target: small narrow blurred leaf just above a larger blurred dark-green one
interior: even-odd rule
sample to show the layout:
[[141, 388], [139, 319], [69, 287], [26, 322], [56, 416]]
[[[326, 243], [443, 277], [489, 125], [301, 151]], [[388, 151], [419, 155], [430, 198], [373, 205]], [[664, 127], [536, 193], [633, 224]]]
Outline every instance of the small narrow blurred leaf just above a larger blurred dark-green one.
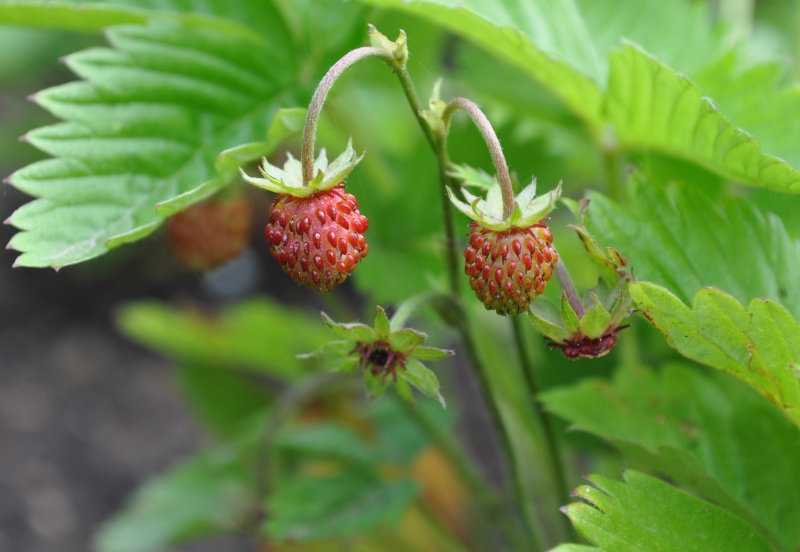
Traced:
[[362, 466], [376, 461], [374, 451], [358, 433], [336, 423], [287, 427], [275, 439], [274, 445], [283, 451]]

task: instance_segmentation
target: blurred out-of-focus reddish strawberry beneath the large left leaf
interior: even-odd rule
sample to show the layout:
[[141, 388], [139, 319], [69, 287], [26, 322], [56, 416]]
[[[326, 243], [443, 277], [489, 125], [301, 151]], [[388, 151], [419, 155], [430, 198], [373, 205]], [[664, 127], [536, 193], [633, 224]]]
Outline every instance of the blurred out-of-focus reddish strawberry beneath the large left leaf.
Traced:
[[181, 264], [208, 270], [242, 252], [252, 225], [253, 208], [244, 195], [212, 199], [172, 216], [167, 221], [167, 242]]

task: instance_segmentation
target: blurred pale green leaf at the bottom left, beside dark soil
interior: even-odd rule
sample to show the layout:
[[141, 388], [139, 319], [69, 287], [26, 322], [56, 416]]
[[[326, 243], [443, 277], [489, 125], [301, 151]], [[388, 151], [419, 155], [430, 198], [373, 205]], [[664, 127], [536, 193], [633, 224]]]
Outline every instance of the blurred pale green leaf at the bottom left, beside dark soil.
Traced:
[[251, 462], [218, 447], [140, 487], [96, 537], [98, 552], [154, 552], [237, 532], [256, 510]]

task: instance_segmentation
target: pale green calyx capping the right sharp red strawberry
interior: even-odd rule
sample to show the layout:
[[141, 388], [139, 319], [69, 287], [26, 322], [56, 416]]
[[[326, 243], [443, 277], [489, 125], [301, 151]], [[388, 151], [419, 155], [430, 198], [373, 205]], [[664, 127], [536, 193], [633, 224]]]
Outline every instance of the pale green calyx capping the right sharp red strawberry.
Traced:
[[[560, 182], [555, 189], [537, 196], [536, 178], [534, 178], [530, 184], [514, 196], [514, 211], [511, 216], [505, 218], [503, 216], [502, 191], [497, 179], [468, 166], [456, 166], [449, 174], [463, 184], [461, 194], [465, 201], [457, 198], [453, 191], [449, 187], [447, 188], [447, 195], [456, 209], [481, 226], [497, 232], [509, 228], [533, 226], [555, 209], [556, 202], [561, 197]], [[468, 186], [486, 189], [486, 198], [472, 194], [467, 189]]]

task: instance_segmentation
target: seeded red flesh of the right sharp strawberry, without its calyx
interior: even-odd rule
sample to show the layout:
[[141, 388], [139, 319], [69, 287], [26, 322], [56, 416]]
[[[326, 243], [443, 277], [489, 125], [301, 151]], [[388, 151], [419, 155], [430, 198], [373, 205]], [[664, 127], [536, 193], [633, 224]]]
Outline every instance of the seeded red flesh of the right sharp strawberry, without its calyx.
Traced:
[[524, 312], [544, 292], [558, 261], [550, 229], [540, 222], [501, 232], [477, 222], [470, 226], [464, 249], [469, 287], [487, 309], [499, 314]]

